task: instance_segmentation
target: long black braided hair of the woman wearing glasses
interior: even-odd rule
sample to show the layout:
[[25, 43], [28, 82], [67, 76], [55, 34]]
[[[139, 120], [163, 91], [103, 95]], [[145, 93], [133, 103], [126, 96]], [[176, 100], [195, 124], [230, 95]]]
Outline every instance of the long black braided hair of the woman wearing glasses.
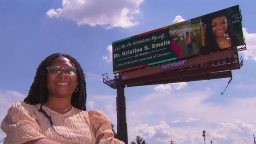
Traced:
[[48, 90], [46, 86], [46, 67], [50, 66], [50, 63], [54, 58], [63, 56], [68, 58], [72, 64], [77, 68], [78, 76], [78, 91], [72, 94], [71, 104], [75, 108], [80, 110], [86, 110], [86, 82], [84, 80], [84, 72], [80, 64], [75, 58], [68, 54], [54, 53], [44, 59], [36, 70], [36, 76], [34, 82], [30, 86], [28, 96], [24, 99], [26, 104], [44, 104], [48, 100]]

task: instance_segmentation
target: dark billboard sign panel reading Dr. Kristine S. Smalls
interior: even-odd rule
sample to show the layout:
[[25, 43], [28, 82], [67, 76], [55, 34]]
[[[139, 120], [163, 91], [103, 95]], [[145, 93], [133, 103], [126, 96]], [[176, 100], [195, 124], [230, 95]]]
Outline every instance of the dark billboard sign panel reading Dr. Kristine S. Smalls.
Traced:
[[112, 42], [113, 73], [244, 44], [239, 6]]

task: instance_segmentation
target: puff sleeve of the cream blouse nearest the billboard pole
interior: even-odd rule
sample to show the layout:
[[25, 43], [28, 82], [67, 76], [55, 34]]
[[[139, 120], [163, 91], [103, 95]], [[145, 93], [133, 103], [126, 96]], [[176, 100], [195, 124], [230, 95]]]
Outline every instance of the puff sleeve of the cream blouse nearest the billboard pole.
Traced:
[[88, 112], [91, 126], [94, 130], [97, 144], [124, 144], [114, 138], [114, 132], [108, 116], [102, 111], [91, 110]]

